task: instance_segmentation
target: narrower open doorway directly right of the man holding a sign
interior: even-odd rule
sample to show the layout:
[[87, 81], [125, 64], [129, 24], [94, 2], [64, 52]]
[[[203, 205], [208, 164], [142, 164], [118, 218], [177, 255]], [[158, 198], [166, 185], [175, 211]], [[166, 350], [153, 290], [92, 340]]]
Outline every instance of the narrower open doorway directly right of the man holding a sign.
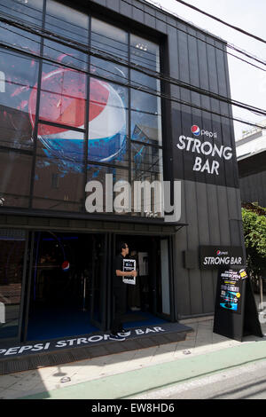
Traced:
[[170, 238], [116, 235], [116, 255], [121, 242], [128, 244], [129, 258], [135, 259], [137, 264], [136, 285], [127, 285], [124, 327], [172, 320]]

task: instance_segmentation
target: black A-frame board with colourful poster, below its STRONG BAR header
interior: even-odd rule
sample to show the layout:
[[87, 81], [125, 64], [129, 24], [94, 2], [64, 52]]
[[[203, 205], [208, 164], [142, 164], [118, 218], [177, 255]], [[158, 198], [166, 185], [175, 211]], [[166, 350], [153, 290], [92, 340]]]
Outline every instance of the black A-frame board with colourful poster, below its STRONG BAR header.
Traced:
[[246, 269], [233, 267], [218, 271], [214, 333], [239, 342], [248, 334], [263, 337]]

